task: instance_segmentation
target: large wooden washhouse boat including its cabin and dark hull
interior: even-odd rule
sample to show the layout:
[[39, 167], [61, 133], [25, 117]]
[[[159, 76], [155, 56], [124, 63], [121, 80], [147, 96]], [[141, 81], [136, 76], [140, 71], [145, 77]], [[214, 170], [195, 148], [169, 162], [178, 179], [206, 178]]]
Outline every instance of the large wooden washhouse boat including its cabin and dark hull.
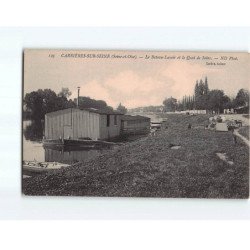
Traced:
[[45, 115], [45, 147], [100, 148], [119, 137], [121, 116], [109, 109], [68, 108]]

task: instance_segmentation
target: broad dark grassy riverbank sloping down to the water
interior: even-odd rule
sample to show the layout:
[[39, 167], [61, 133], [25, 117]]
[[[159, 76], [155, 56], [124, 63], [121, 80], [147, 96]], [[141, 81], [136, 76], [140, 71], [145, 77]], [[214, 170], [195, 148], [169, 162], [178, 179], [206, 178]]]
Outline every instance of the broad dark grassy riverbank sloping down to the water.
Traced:
[[[169, 115], [169, 128], [54, 174], [23, 180], [27, 195], [248, 197], [249, 154], [232, 134], [187, 129], [207, 116]], [[169, 144], [180, 144], [172, 150]], [[234, 165], [219, 160], [227, 153]]]

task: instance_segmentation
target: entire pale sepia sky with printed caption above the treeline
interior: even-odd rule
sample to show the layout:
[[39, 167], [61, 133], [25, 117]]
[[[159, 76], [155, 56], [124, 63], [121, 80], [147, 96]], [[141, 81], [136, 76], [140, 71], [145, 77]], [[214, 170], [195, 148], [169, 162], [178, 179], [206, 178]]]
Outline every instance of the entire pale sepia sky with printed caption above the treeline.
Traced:
[[[218, 59], [216, 59], [218, 58]], [[235, 96], [249, 88], [249, 54], [155, 51], [26, 50], [24, 94], [62, 87], [116, 108], [162, 105], [193, 95], [196, 80]]]

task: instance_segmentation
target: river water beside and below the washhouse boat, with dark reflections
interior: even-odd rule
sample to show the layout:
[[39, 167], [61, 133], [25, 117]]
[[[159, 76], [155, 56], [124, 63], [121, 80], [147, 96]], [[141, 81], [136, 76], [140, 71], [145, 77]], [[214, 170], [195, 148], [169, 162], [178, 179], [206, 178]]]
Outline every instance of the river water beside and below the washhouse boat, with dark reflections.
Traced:
[[[58, 150], [44, 148], [42, 144], [44, 125], [38, 121], [23, 122], [23, 160], [60, 163], [82, 162], [95, 158], [103, 150]], [[108, 150], [108, 149], [105, 149]]]

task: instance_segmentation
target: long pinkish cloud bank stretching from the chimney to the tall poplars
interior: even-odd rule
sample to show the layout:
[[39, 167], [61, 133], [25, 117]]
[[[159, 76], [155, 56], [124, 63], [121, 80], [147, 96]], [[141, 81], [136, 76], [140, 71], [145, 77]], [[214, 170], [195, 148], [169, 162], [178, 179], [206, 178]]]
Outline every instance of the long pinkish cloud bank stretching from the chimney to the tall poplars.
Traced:
[[[120, 102], [128, 108], [161, 105], [166, 97], [180, 99], [192, 95], [195, 81], [208, 71], [204, 66], [188, 62], [172, 62], [154, 69], [150, 75], [124, 70], [102, 81], [88, 81], [80, 86], [80, 95], [105, 100], [114, 108]], [[75, 91], [73, 96], [76, 95]]]

